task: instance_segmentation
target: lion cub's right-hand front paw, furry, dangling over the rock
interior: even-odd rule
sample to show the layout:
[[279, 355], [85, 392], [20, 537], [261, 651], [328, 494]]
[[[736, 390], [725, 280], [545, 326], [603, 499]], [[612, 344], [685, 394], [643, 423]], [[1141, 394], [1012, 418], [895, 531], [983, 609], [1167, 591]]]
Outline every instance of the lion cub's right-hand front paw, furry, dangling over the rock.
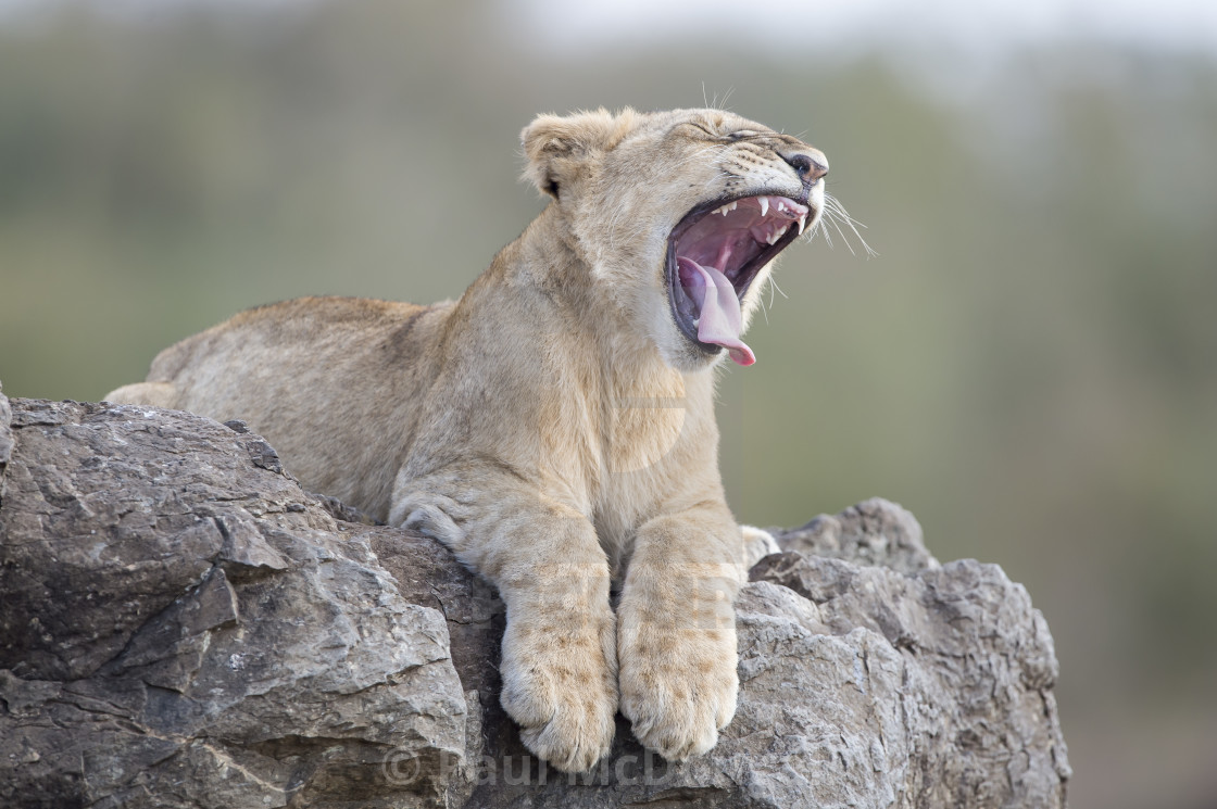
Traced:
[[621, 712], [663, 758], [700, 755], [735, 715], [735, 629], [619, 630]]

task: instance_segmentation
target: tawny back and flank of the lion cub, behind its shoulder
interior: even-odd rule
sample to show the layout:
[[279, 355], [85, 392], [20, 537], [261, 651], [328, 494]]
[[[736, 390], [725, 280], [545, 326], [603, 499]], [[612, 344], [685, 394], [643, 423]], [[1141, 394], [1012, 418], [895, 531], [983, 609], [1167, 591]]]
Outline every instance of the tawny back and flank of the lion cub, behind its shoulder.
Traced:
[[310, 490], [381, 519], [453, 304], [299, 298], [170, 345], [111, 401], [240, 418]]

